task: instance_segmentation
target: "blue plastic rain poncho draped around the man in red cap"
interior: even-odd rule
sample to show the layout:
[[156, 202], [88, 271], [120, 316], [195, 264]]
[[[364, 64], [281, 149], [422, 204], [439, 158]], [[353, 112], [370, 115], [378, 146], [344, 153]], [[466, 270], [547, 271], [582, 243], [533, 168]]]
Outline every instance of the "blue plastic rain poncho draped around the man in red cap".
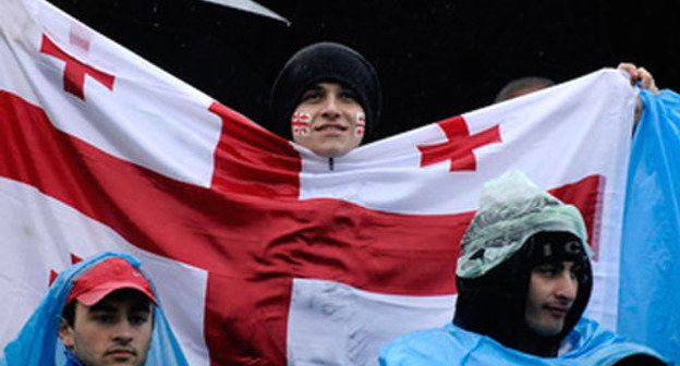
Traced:
[[[88, 258], [70, 267], [59, 274], [47, 295], [24, 325], [19, 335], [4, 347], [4, 356], [0, 359], [0, 366], [56, 366], [64, 365], [66, 357], [65, 347], [59, 340], [59, 324], [66, 297], [71, 292], [73, 281], [89, 268], [111, 257], [121, 257], [139, 268], [139, 261], [131, 255], [123, 253], [104, 253]], [[151, 283], [149, 276], [142, 273]], [[156, 296], [158, 298], [158, 295]], [[189, 365], [180, 349], [180, 345], [170, 329], [160, 301], [154, 310], [155, 325], [151, 333], [146, 366], [185, 366]]]

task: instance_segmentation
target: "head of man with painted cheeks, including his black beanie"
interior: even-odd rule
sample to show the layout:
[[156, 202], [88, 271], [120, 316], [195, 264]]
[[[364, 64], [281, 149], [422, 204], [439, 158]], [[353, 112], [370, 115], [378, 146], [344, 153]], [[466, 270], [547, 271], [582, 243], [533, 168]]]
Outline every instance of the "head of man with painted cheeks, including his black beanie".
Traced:
[[340, 157], [375, 131], [381, 91], [373, 65], [355, 50], [319, 42], [298, 51], [271, 89], [271, 130], [314, 154]]

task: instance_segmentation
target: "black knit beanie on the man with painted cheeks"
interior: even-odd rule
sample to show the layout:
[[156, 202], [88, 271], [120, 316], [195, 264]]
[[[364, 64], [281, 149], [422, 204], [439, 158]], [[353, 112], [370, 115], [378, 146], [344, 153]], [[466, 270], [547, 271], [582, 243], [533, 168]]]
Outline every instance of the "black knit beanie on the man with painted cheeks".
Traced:
[[359, 52], [333, 42], [307, 46], [283, 65], [271, 88], [272, 132], [292, 138], [291, 115], [302, 94], [321, 82], [338, 83], [356, 93], [366, 114], [366, 136], [371, 136], [382, 102], [378, 74]]

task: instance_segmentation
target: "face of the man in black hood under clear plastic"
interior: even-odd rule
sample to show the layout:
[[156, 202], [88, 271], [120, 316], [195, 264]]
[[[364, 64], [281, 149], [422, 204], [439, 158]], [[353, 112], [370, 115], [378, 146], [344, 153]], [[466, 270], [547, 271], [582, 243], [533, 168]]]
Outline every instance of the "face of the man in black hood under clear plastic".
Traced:
[[542, 337], [557, 335], [576, 298], [578, 273], [573, 261], [555, 261], [534, 267], [524, 310], [526, 325]]

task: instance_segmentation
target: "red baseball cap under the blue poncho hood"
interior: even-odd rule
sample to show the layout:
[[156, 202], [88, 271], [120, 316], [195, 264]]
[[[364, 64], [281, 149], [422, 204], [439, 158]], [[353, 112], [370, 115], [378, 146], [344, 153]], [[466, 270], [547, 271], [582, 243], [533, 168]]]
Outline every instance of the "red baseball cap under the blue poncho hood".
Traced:
[[73, 281], [66, 304], [76, 298], [85, 306], [93, 306], [113, 291], [137, 290], [158, 305], [151, 284], [144, 274], [127, 260], [113, 257], [100, 261]]

